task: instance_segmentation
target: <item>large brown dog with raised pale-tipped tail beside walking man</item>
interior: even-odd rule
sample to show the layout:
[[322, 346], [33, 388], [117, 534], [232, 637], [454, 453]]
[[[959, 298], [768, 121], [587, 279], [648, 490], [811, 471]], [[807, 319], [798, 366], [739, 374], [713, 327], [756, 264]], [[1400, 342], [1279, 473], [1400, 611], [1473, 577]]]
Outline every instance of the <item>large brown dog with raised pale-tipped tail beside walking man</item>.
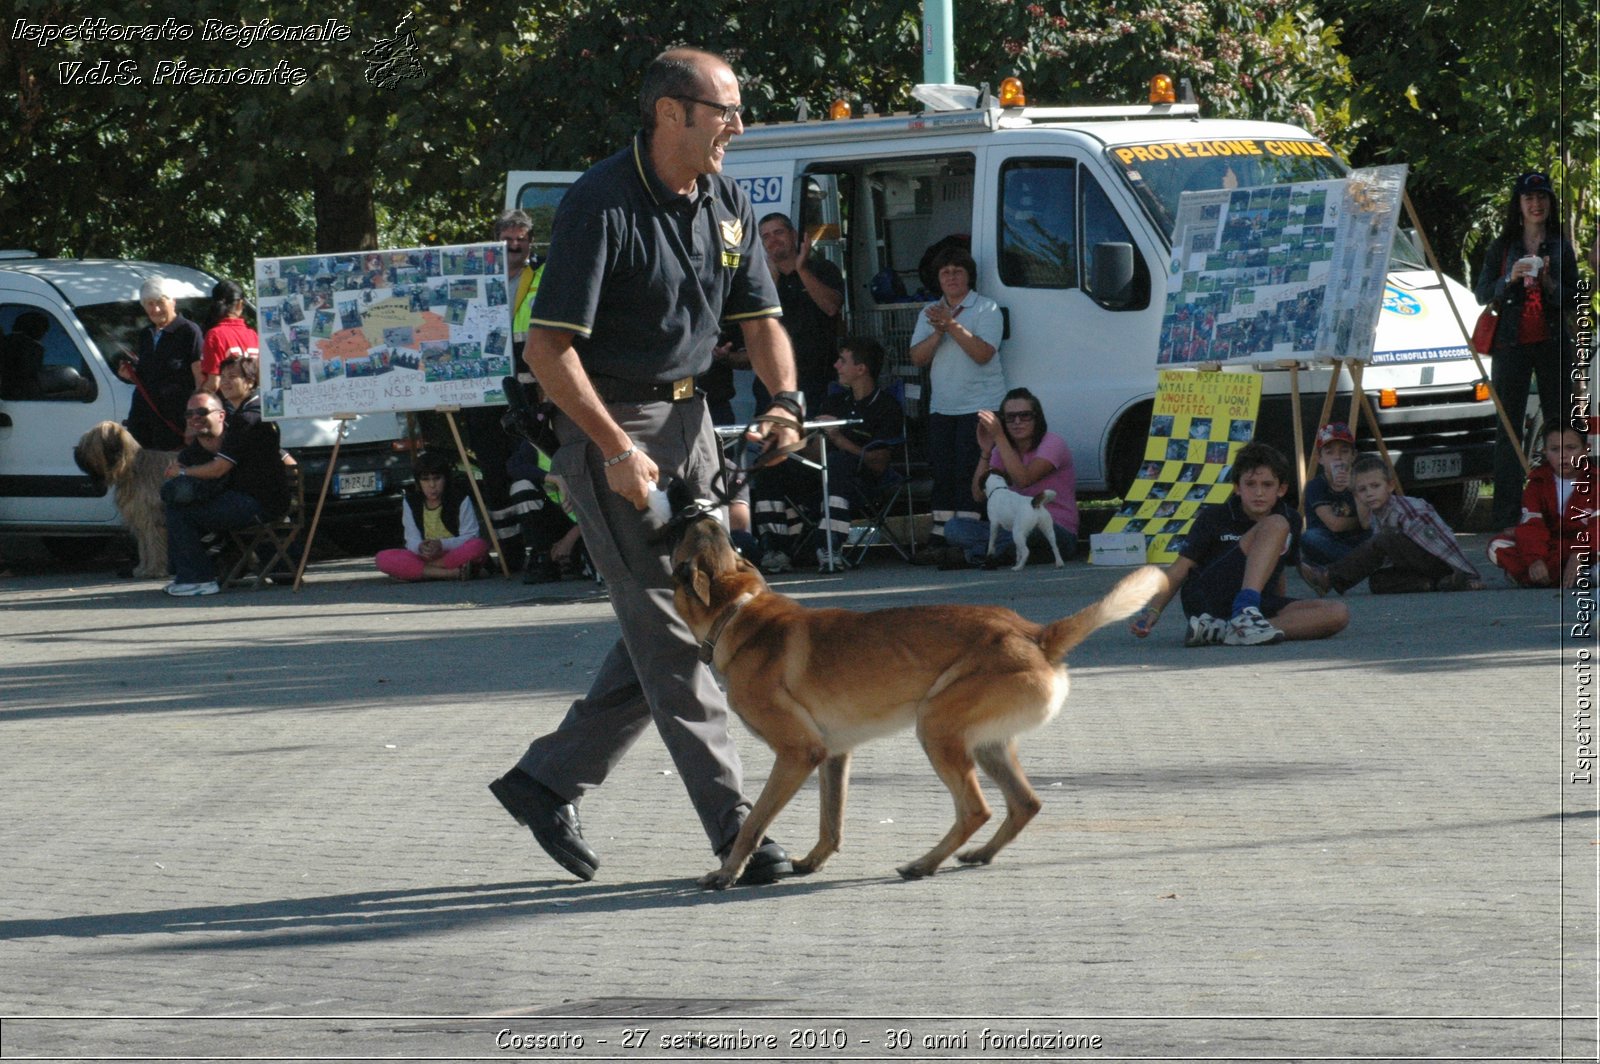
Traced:
[[822, 829], [794, 862], [816, 872], [837, 850], [850, 750], [907, 725], [955, 798], [955, 824], [906, 878], [933, 875], [989, 819], [976, 768], [1005, 794], [1005, 822], [958, 854], [987, 864], [1040, 810], [1016, 760], [1016, 734], [1067, 698], [1062, 658], [1094, 629], [1133, 616], [1162, 587], [1144, 566], [1070, 618], [1034, 624], [1000, 606], [906, 606], [853, 613], [808, 610], [766, 586], [710, 517], [690, 522], [672, 552], [678, 614], [701, 658], [728, 682], [728, 704], [778, 755], [773, 774], [720, 869], [699, 880], [738, 882], [750, 853], [800, 784], [821, 766]]

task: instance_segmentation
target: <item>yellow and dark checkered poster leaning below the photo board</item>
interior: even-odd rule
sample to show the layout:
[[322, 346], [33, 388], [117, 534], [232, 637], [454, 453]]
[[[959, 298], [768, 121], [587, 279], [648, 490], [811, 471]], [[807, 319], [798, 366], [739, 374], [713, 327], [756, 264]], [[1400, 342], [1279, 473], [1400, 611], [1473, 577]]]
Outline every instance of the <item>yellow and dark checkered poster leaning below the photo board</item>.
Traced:
[[1139, 533], [1146, 560], [1178, 558], [1195, 514], [1234, 493], [1234, 456], [1256, 435], [1259, 373], [1163, 370], [1144, 462], [1107, 533]]

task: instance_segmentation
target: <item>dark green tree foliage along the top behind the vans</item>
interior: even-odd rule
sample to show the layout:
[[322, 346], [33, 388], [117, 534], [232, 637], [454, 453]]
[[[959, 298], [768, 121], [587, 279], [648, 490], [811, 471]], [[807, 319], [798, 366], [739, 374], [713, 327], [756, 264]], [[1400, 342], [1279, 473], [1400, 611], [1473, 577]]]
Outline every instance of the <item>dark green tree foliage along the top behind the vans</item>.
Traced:
[[[245, 277], [256, 254], [480, 238], [507, 170], [581, 170], [637, 126], [638, 75], [696, 43], [744, 75], [755, 122], [835, 98], [906, 109], [922, 80], [920, 6], [904, 0], [262, 0], [251, 22], [334, 19], [323, 43], [38, 42], [16, 19], [77, 24], [82, 6], [13, 0], [0, 34], [0, 219], [11, 246], [149, 256]], [[102, 0], [110, 24], [206, 19], [221, 0]], [[1352, 162], [1408, 162], [1445, 253], [1552, 171], [1589, 226], [1595, 166], [1594, 13], [1581, 0], [1406, 8], [1378, 0], [958, 0], [958, 77], [1021, 74], [1034, 102], [1136, 102], [1149, 77], [1187, 78], [1205, 114], [1301, 123]], [[413, 45], [403, 78], [363, 56]], [[392, 53], [389, 53], [392, 54]], [[67, 85], [62, 62], [131, 64], [141, 83]], [[152, 83], [155, 64], [304, 70], [298, 85]], [[1584, 245], [1586, 242], [1581, 242]]]

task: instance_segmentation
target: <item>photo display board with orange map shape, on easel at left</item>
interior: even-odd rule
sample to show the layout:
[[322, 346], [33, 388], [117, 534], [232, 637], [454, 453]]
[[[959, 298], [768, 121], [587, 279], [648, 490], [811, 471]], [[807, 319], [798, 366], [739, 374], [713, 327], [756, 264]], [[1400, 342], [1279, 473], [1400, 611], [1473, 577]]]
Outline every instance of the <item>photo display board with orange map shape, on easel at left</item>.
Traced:
[[266, 418], [504, 403], [506, 245], [256, 259]]

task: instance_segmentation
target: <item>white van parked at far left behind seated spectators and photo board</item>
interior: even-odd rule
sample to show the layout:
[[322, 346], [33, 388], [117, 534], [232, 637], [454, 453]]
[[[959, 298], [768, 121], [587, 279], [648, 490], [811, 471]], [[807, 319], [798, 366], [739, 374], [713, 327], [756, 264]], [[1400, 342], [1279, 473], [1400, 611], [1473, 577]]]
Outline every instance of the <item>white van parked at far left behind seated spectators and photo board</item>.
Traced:
[[[74, 464], [72, 448], [91, 426], [128, 416], [133, 386], [112, 373], [109, 358], [138, 347], [139, 330], [149, 326], [139, 286], [157, 275], [179, 285], [178, 309], [203, 323], [216, 278], [200, 270], [0, 251], [0, 360], [8, 358], [18, 317], [38, 314], [46, 323], [38, 339], [43, 366], [18, 374], [0, 363], [0, 533], [85, 536], [122, 530], [110, 491]], [[307, 483], [320, 486], [336, 430], [334, 421], [280, 422], [283, 446], [304, 466]], [[405, 419], [360, 418], [339, 446], [323, 514], [331, 534], [397, 530], [398, 498], [410, 478]]]

